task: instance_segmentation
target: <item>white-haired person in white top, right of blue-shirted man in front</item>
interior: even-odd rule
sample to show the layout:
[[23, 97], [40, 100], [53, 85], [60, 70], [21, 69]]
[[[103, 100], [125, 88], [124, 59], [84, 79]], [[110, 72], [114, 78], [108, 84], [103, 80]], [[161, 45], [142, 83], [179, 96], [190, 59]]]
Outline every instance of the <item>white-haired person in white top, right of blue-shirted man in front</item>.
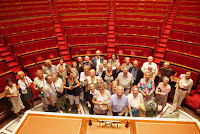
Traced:
[[138, 117], [139, 109], [140, 109], [140, 104], [144, 103], [143, 101], [143, 96], [139, 92], [139, 87], [138, 86], [133, 86], [131, 89], [131, 93], [128, 95], [128, 102], [130, 104], [130, 109], [133, 117]]

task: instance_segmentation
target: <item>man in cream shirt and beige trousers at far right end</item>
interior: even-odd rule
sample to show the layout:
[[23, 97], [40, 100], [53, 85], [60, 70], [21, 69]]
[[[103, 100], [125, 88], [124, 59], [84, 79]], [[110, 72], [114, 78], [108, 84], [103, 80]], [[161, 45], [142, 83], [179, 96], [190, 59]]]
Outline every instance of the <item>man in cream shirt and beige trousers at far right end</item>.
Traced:
[[190, 93], [193, 86], [193, 80], [190, 78], [191, 73], [191, 71], [187, 71], [186, 74], [180, 75], [180, 80], [176, 84], [176, 91], [170, 114], [173, 113], [176, 109], [181, 109], [181, 103], [183, 99], [186, 98]]

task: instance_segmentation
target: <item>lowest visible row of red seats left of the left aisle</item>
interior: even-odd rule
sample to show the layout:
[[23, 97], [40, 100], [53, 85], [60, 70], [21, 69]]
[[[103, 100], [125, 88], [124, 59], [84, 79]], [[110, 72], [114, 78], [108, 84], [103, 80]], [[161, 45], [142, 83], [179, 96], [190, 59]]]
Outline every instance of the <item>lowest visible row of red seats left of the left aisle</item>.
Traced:
[[50, 48], [44, 50], [38, 50], [31, 53], [27, 53], [24, 55], [19, 55], [18, 60], [20, 61], [21, 65], [25, 67], [26, 65], [45, 61], [47, 59], [53, 59], [59, 57], [58, 48]]

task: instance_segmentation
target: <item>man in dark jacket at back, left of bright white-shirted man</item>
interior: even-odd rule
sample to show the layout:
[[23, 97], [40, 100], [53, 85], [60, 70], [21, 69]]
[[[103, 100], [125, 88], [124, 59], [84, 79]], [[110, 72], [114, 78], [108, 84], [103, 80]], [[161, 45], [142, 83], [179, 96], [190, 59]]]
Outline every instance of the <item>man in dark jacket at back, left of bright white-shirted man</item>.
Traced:
[[139, 62], [137, 60], [133, 61], [133, 67], [129, 69], [129, 72], [133, 75], [134, 83], [133, 85], [137, 85], [140, 79], [143, 77], [142, 70], [138, 67]]

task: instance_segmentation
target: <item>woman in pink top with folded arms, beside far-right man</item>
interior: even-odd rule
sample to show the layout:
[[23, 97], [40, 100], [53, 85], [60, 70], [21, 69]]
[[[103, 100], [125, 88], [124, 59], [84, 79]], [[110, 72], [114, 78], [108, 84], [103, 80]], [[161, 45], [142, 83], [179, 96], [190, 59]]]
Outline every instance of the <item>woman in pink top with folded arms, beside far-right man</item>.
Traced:
[[157, 110], [158, 105], [161, 105], [162, 109], [160, 111], [160, 114], [162, 113], [164, 107], [166, 106], [168, 93], [171, 90], [171, 86], [168, 83], [169, 83], [169, 78], [165, 76], [163, 77], [163, 82], [160, 82], [156, 88], [155, 94], [157, 96], [155, 97], [156, 107], [154, 111]]

